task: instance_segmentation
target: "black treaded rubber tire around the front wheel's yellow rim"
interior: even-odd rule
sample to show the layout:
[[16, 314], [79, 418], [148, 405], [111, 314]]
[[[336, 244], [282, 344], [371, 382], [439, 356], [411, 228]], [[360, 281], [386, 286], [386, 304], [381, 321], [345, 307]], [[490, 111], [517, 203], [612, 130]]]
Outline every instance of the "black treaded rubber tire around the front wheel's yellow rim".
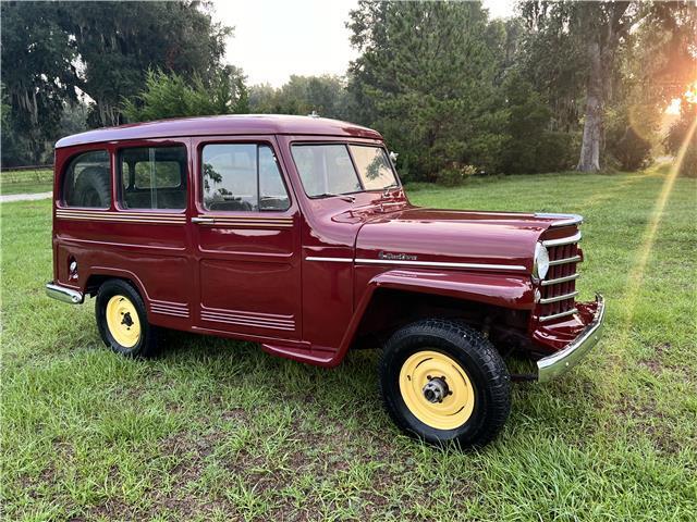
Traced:
[[[426, 362], [429, 361], [427, 350], [455, 361], [461, 366], [452, 366], [456, 370], [456, 375], [461, 375], [460, 370], [464, 370], [470, 383], [470, 387], [465, 388], [474, 391], [474, 398], [470, 399], [474, 406], [466, 410], [470, 413], [455, 427], [441, 428], [423, 422], [409, 409], [403, 397], [400, 385], [402, 368], [407, 360], [414, 360], [409, 359], [412, 356], [415, 356], [416, 360], [425, 357]], [[419, 352], [425, 355], [418, 356]], [[437, 356], [433, 358], [438, 359]], [[407, 364], [404, 368], [412, 366]], [[414, 371], [414, 384], [412, 375], [405, 370], [407, 378], [402, 380], [403, 386], [420, 389], [416, 369], [418, 364]], [[428, 375], [426, 382], [430, 383], [430, 380], [431, 375]], [[408, 435], [435, 445], [455, 443], [462, 448], [484, 446], [498, 435], [511, 412], [511, 376], [501, 356], [479, 332], [454, 321], [429, 319], [409, 324], [394, 333], [384, 346], [379, 363], [379, 381], [384, 407], [394, 423]], [[441, 402], [447, 398], [448, 393]], [[414, 401], [414, 398], [411, 400]], [[426, 393], [419, 400], [426, 400]], [[427, 408], [431, 406], [427, 405]], [[456, 414], [461, 414], [460, 410]], [[462, 414], [466, 413], [463, 411]]]

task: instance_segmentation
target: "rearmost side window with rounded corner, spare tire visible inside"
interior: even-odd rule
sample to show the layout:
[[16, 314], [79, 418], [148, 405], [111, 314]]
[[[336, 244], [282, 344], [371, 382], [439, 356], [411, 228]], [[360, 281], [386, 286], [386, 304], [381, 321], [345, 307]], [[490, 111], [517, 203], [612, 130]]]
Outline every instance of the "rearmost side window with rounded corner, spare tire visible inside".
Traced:
[[109, 152], [95, 150], [74, 158], [63, 175], [66, 207], [108, 209], [111, 206]]

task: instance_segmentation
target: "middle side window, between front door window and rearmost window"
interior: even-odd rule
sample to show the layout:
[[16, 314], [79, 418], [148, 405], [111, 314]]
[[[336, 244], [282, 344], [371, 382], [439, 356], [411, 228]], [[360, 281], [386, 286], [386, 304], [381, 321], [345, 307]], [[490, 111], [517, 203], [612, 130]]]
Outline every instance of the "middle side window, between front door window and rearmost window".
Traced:
[[124, 209], [186, 208], [186, 147], [136, 147], [119, 153]]

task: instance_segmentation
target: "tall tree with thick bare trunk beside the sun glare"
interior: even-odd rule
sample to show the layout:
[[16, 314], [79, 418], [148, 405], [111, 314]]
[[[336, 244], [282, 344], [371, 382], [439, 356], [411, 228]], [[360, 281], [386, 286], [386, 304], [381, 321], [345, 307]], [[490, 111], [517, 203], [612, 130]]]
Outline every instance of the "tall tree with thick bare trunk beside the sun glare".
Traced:
[[[653, 98], [644, 100], [645, 107], [659, 110], [660, 97], [664, 107], [670, 89], [657, 89], [650, 83], [674, 72], [676, 65], [685, 69], [684, 63], [690, 60], [686, 57], [694, 41], [694, 30], [689, 36], [694, 8], [687, 2], [535, 1], [523, 3], [521, 11], [529, 30], [529, 71], [550, 100], [562, 100], [561, 114], [565, 114], [570, 127], [584, 100], [577, 170], [597, 171], [606, 142], [606, 115], [613, 103], [633, 95], [631, 88], [651, 85]], [[653, 54], [668, 54], [668, 63], [647, 66], [652, 59], [641, 50], [651, 40]], [[633, 54], [644, 60], [627, 66], [626, 58]], [[636, 129], [621, 135], [628, 137]]]

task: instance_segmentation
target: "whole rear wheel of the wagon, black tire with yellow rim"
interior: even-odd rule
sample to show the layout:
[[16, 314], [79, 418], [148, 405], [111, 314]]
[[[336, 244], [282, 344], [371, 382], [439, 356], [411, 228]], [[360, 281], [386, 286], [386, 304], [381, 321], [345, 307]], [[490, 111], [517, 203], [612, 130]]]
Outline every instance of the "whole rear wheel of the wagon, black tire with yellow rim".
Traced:
[[130, 283], [105, 282], [97, 294], [95, 314], [102, 340], [117, 353], [126, 357], [157, 353], [159, 330], [148, 323], [143, 298]]

